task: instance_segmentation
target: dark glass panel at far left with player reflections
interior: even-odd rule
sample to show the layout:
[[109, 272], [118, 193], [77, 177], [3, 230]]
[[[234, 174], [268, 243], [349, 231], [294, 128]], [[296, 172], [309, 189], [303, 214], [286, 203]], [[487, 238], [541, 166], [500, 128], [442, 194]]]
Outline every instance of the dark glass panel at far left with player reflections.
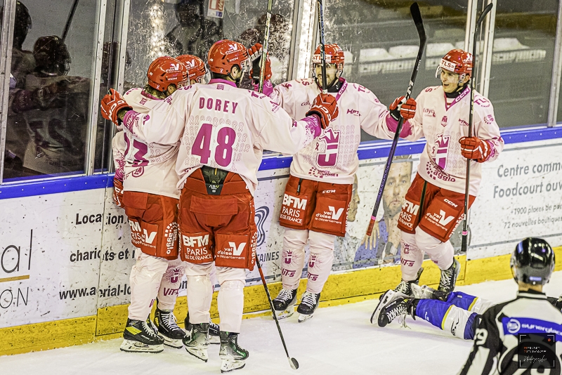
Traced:
[[95, 18], [96, 1], [18, 1], [4, 182], [84, 172]]

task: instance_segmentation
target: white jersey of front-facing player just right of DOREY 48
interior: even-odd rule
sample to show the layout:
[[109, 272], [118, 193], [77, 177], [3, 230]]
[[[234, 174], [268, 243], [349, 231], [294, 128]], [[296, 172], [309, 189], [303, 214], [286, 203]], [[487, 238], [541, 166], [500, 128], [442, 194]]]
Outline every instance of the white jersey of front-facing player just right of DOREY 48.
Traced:
[[[379, 137], [379, 122], [388, 113], [368, 88], [341, 80], [336, 97], [339, 115], [310, 145], [294, 154], [290, 173], [298, 178], [327, 183], [353, 183], [358, 169], [361, 129]], [[296, 79], [275, 86], [271, 98], [291, 117], [304, 117], [320, 93], [314, 79]], [[385, 126], [386, 127], [386, 126]], [[385, 134], [382, 134], [386, 138]]]

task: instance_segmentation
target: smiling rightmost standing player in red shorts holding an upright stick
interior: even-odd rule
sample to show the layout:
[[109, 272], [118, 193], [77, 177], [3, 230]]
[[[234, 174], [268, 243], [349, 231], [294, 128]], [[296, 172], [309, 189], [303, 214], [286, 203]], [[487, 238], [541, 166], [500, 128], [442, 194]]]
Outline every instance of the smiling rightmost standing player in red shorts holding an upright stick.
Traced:
[[[468, 134], [471, 74], [472, 55], [459, 49], [449, 51], [436, 72], [441, 86], [421, 91], [416, 98], [415, 116], [405, 121], [400, 132], [401, 138], [414, 141], [425, 137], [427, 142], [398, 218], [402, 281], [395, 290], [404, 294], [411, 294], [410, 284], [419, 279], [424, 253], [441, 270], [438, 290], [449, 292], [455, 288], [460, 265], [453, 258], [449, 239], [464, 218], [465, 158], [471, 159], [471, 205], [480, 185], [481, 163], [497, 159], [504, 147], [492, 103], [477, 92], [474, 134]], [[397, 104], [395, 101], [391, 108]], [[398, 119], [386, 124], [390, 125], [386, 138], [391, 139]]]

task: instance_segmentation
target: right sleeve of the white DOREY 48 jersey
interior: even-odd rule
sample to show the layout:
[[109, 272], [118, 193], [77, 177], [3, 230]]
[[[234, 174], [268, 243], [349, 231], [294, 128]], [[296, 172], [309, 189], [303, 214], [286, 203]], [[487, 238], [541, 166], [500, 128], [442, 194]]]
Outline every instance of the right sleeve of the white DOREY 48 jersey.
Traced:
[[316, 117], [292, 119], [273, 100], [263, 94], [254, 94], [251, 115], [257, 127], [254, 146], [262, 150], [296, 154], [320, 134], [320, 121]]

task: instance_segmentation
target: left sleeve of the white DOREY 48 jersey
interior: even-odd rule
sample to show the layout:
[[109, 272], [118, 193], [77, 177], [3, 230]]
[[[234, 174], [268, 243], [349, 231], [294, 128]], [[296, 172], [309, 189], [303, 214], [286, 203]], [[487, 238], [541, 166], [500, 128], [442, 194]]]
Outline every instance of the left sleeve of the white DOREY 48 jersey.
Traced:
[[174, 145], [183, 134], [193, 92], [180, 89], [157, 103], [147, 113], [134, 110], [126, 112], [123, 126], [145, 143]]

